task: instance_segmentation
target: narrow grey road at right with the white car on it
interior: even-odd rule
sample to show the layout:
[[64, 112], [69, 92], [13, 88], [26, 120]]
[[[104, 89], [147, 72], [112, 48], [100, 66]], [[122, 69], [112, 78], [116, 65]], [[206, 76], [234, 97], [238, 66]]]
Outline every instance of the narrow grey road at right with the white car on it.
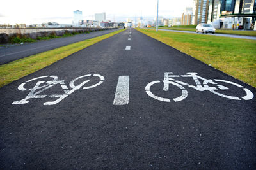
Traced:
[[[158, 29], [161, 31], [171, 31], [171, 32], [183, 32], [183, 33], [189, 33], [189, 34], [203, 34], [202, 32], [193, 32], [193, 31], [181, 31], [181, 30], [171, 30], [171, 29]], [[223, 36], [223, 37], [232, 37], [232, 38], [243, 38], [243, 39], [252, 39], [256, 40], [255, 36], [239, 36], [239, 35], [234, 35], [234, 34], [205, 34], [209, 36]]]

